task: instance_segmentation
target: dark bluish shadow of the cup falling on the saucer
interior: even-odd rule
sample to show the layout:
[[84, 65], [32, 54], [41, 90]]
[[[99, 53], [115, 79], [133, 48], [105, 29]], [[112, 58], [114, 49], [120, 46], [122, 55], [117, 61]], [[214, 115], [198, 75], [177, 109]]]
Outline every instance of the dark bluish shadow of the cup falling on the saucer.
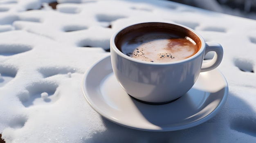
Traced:
[[[132, 101], [150, 123], [163, 130], [169, 127], [180, 129], [194, 126], [196, 122], [218, 110], [224, 93], [225, 88], [213, 93], [192, 88], [176, 101], [167, 104], [149, 105], [137, 100]], [[187, 126], [188, 124], [191, 125]]]

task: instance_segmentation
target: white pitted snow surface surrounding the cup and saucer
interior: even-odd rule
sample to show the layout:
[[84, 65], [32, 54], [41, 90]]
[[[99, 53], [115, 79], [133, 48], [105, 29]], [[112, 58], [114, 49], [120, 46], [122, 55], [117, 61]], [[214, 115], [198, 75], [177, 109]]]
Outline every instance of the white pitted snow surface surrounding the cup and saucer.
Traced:
[[[164, 0], [0, 1], [0, 132], [7, 143], [256, 141], [256, 21]], [[39, 9], [30, 10], [29, 9]], [[85, 70], [109, 55], [111, 35], [134, 22], [168, 21], [222, 44], [229, 97], [193, 128], [145, 132], [102, 118], [85, 101]]]

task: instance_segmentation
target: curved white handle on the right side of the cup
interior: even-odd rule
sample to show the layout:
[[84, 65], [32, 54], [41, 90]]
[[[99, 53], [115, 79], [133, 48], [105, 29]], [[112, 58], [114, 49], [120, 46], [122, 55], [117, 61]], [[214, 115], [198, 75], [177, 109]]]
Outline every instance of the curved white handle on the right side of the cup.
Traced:
[[206, 72], [209, 70], [213, 70], [214, 68], [217, 68], [217, 66], [219, 66], [222, 61], [223, 48], [219, 43], [206, 42], [204, 56], [210, 51], [215, 52], [213, 59], [211, 59], [211, 61], [209, 62], [202, 64], [201, 72]]

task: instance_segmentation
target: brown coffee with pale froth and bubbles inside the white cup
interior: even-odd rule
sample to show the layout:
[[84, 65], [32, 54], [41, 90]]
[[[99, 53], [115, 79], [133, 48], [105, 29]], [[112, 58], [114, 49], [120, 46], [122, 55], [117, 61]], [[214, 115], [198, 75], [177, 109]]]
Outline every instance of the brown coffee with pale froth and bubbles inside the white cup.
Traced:
[[175, 62], [195, 55], [199, 48], [188, 36], [153, 31], [126, 36], [119, 50], [142, 61]]

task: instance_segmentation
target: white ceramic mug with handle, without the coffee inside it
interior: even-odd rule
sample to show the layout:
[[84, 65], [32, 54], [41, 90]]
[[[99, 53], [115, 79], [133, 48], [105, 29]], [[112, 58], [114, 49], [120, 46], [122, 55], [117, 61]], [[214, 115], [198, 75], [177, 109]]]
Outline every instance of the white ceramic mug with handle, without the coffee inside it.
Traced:
[[[152, 35], [154, 32], [189, 37], [198, 50], [194, 55], [174, 62], [144, 61], [122, 52], [122, 44], [127, 43], [127, 37], [133, 36], [129, 43], [134, 42], [138, 35]], [[213, 59], [203, 63], [204, 55], [210, 51], [215, 52]], [[200, 72], [216, 68], [222, 61], [223, 49], [218, 43], [205, 42], [200, 34], [186, 26], [168, 22], [144, 22], [125, 26], [115, 32], [110, 40], [110, 55], [115, 77], [128, 95], [141, 102], [163, 104], [188, 92]]]

